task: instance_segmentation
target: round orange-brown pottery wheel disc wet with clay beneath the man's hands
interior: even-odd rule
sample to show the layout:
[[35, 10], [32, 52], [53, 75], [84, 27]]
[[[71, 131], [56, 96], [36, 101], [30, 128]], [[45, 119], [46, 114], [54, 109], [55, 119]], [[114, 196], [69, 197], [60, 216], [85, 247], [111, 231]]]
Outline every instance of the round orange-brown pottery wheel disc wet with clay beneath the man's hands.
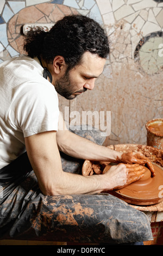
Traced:
[[[120, 190], [108, 191], [108, 193], [123, 199], [125, 202], [134, 205], [153, 205], [163, 200], [163, 168], [152, 163], [155, 169], [155, 176], [146, 168], [143, 177]], [[105, 167], [110, 168], [109, 166]]]

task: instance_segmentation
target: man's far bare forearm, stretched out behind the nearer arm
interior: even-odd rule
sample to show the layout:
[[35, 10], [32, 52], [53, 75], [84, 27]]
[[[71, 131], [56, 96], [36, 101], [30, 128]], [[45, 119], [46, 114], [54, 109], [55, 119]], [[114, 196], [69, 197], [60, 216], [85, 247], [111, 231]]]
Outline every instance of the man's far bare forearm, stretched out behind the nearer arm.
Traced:
[[59, 150], [78, 159], [111, 161], [121, 159], [122, 153], [103, 147], [70, 131], [60, 131], [57, 136]]

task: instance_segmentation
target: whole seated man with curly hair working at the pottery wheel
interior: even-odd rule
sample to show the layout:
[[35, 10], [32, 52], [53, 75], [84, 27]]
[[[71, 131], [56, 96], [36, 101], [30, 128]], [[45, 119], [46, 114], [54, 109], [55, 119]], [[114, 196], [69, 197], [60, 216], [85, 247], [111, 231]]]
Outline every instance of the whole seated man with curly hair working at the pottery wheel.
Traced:
[[[125, 212], [134, 210], [114, 198], [114, 218], [109, 220], [106, 214], [104, 220], [101, 209], [110, 214], [112, 197], [106, 199], [97, 193], [140, 179], [145, 163], [151, 172], [153, 167], [142, 154], [112, 150], [69, 131], [58, 107], [58, 94], [73, 100], [95, 87], [109, 55], [108, 36], [89, 17], [70, 15], [58, 20], [49, 32], [30, 31], [24, 41], [24, 51], [26, 55], [0, 64], [0, 185], [5, 194], [0, 202], [0, 230], [11, 234], [12, 239], [14, 235], [21, 236], [22, 230], [23, 234], [29, 232], [34, 237], [41, 233], [43, 239], [45, 235], [57, 237], [59, 234], [64, 241], [71, 237], [73, 240], [82, 237], [86, 241], [86, 230], [89, 241], [90, 236], [97, 236], [97, 240], [103, 236], [107, 241], [112, 235], [114, 239], [117, 230], [112, 230], [111, 224], [113, 221], [115, 227], [121, 216], [118, 207], [122, 205]], [[111, 166], [105, 174], [83, 176], [71, 173], [71, 168], [63, 170], [60, 152], [76, 159], [120, 164]], [[129, 172], [124, 161], [136, 164], [133, 172]], [[31, 180], [34, 183], [29, 186]], [[22, 186], [23, 182], [27, 182], [26, 186]], [[18, 197], [14, 193], [18, 193]], [[93, 194], [91, 200], [90, 194]], [[98, 209], [92, 205], [96, 198], [101, 206]], [[86, 200], [88, 205], [83, 205]], [[140, 212], [138, 217], [130, 216], [129, 225], [129, 216], [122, 216], [118, 223], [122, 239], [120, 236], [116, 239], [124, 242], [151, 238], [146, 216]], [[16, 219], [12, 221], [12, 217]], [[99, 228], [97, 234], [96, 228]]]

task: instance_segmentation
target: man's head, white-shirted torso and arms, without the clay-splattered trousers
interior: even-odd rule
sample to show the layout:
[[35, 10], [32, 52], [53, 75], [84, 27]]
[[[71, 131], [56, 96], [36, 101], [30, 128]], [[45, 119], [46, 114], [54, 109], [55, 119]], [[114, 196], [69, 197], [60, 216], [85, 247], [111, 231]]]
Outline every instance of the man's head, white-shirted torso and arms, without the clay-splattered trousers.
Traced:
[[103, 72], [109, 43], [97, 22], [82, 15], [66, 16], [49, 32], [30, 32], [24, 50], [27, 56], [8, 60], [0, 68], [0, 185], [17, 182], [31, 170], [30, 164], [47, 196], [95, 194], [143, 174], [142, 166], [133, 166], [130, 172], [124, 164], [88, 177], [63, 172], [59, 150], [78, 159], [147, 163], [152, 170], [142, 155], [110, 150], [60, 125], [57, 93], [74, 99], [92, 90]]

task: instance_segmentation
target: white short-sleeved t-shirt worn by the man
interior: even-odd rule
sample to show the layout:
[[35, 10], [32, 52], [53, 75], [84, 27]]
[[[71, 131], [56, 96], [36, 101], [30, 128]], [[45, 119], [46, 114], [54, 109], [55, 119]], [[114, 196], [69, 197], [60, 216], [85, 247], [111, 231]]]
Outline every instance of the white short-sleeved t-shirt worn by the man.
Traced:
[[0, 65], [0, 169], [26, 151], [24, 137], [58, 130], [58, 95], [37, 58]]

